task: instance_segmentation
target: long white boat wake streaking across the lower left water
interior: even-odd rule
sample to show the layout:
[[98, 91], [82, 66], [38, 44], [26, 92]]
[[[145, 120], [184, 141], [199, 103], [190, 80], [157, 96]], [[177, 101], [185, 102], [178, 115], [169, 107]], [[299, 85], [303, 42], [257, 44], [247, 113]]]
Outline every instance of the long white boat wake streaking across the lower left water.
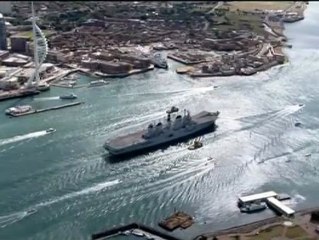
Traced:
[[107, 181], [107, 182], [103, 182], [103, 183], [98, 183], [92, 187], [89, 188], [85, 188], [83, 190], [80, 191], [76, 191], [76, 192], [72, 192], [72, 193], [68, 193], [66, 195], [63, 195], [61, 197], [57, 197], [51, 200], [48, 200], [46, 202], [41, 202], [38, 203], [36, 205], [34, 205], [33, 207], [30, 207], [29, 209], [25, 210], [25, 211], [21, 211], [21, 212], [16, 212], [16, 213], [12, 213], [9, 215], [5, 215], [5, 216], [0, 216], [0, 228], [4, 228], [8, 225], [11, 225], [15, 222], [18, 222], [34, 213], [36, 213], [41, 207], [46, 207], [49, 205], [52, 205], [54, 203], [57, 202], [61, 202], [67, 199], [71, 199], [74, 197], [78, 197], [81, 195], [86, 195], [86, 194], [90, 194], [90, 193], [94, 193], [94, 192], [99, 192], [102, 191], [103, 189], [116, 185], [118, 183], [120, 183], [121, 181], [116, 179], [113, 181]]

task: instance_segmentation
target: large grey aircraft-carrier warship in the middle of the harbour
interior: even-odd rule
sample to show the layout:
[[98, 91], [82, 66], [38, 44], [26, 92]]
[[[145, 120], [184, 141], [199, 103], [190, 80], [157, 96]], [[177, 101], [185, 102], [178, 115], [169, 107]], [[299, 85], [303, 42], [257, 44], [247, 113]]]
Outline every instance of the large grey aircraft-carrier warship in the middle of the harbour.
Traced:
[[131, 155], [160, 148], [204, 131], [214, 130], [219, 115], [218, 111], [202, 111], [191, 116], [185, 109], [182, 116], [177, 107], [172, 107], [166, 113], [163, 123], [149, 124], [147, 129], [111, 139], [104, 144], [104, 148], [111, 156]]

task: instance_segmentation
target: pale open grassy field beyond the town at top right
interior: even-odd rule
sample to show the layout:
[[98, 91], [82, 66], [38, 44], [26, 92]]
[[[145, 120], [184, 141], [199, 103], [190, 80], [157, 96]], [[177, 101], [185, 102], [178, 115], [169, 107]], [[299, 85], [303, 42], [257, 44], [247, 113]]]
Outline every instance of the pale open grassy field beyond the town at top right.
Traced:
[[252, 11], [255, 9], [260, 10], [284, 10], [291, 6], [293, 1], [251, 1], [251, 2], [239, 2], [234, 1], [229, 3], [230, 10], [236, 11], [236, 9], [244, 11]]

